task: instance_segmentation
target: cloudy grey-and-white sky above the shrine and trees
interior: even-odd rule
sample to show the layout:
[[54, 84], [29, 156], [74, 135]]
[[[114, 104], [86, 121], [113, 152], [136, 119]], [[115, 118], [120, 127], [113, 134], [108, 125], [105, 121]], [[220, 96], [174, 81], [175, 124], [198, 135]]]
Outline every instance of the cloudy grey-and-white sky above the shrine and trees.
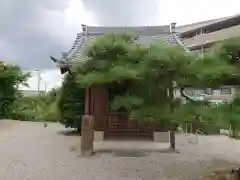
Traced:
[[81, 24], [177, 25], [240, 13], [239, 0], [1, 0], [0, 59], [33, 72], [28, 89], [59, 86], [62, 76], [49, 59], [71, 48]]

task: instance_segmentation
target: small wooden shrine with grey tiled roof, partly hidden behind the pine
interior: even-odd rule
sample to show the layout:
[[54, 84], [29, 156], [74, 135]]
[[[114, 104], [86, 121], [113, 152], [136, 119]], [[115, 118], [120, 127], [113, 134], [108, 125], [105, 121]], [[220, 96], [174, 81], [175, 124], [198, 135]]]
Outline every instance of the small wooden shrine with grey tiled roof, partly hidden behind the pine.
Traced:
[[[175, 33], [175, 25], [175, 23], [166, 26], [141, 27], [93, 27], [82, 25], [82, 32], [77, 34], [70, 51], [62, 53], [59, 60], [53, 57], [51, 59], [57, 63], [63, 74], [69, 71], [69, 68], [74, 66], [75, 63], [79, 63], [79, 59], [83, 58], [82, 52], [85, 47], [106, 33], [130, 32], [137, 35], [137, 43], [149, 44], [154, 40], [163, 40], [169, 44], [184, 46], [178, 34]], [[154, 133], [161, 131], [161, 127], [151, 123], [140, 124], [137, 121], [130, 120], [128, 114], [121, 110], [110, 112], [111, 96], [112, 88], [109, 86], [94, 86], [86, 90], [85, 113], [94, 117], [95, 138], [103, 140], [112, 137], [141, 137], [156, 140]]]

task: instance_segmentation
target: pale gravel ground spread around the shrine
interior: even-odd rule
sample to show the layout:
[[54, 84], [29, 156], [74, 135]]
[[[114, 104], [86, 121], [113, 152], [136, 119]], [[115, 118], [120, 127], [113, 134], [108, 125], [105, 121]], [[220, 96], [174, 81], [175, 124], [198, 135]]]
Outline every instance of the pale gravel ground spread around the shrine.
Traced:
[[240, 141], [224, 136], [203, 136], [194, 144], [194, 137], [178, 135], [180, 153], [81, 158], [80, 138], [60, 133], [59, 124], [7, 124], [0, 122], [1, 180], [197, 180], [212, 169], [240, 167]]

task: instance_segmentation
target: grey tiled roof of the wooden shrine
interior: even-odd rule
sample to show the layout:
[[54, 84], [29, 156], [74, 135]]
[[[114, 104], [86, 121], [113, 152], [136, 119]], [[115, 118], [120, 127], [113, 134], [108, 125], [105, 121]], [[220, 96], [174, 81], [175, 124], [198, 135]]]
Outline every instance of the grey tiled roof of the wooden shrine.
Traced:
[[172, 33], [171, 25], [167, 26], [140, 26], [140, 27], [97, 27], [82, 25], [83, 32], [77, 34], [77, 38], [73, 43], [72, 48], [62, 60], [70, 62], [78, 61], [82, 56], [85, 47], [93, 43], [99, 36], [106, 33], [133, 33], [138, 36], [136, 43], [150, 44], [155, 40], [163, 40], [169, 44], [179, 44], [179, 39]]

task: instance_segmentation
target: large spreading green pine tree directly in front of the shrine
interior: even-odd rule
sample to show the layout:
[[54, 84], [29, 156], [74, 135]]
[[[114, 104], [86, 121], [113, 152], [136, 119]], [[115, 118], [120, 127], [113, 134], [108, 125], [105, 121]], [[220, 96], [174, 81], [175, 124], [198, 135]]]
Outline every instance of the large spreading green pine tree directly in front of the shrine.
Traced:
[[139, 45], [136, 38], [108, 34], [97, 39], [86, 51], [88, 61], [75, 70], [77, 81], [83, 87], [128, 84], [127, 93], [115, 97], [112, 108], [125, 107], [136, 120], [167, 122], [175, 149], [179, 120], [174, 114], [181, 108], [174, 105], [174, 90], [180, 88], [184, 95], [187, 87], [217, 87], [237, 70], [217, 53], [197, 57], [162, 42]]

